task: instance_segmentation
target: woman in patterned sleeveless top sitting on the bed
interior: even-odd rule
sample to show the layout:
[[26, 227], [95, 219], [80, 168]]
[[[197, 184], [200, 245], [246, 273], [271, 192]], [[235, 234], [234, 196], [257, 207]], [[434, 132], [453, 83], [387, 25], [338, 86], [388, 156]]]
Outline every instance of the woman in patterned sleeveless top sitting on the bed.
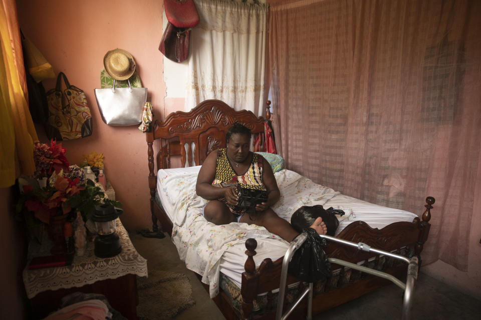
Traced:
[[[207, 155], [197, 177], [197, 195], [210, 200], [204, 208], [205, 219], [214, 224], [254, 223], [286, 241], [292, 241], [299, 233], [271, 208], [279, 200], [281, 192], [269, 162], [249, 150], [251, 130], [235, 122], [225, 134], [225, 141], [226, 148]], [[268, 201], [257, 204], [256, 212], [247, 212], [247, 208], [237, 206], [237, 183], [266, 190]], [[321, 217], [311, 227], [320, 234], [327, 231]]]

